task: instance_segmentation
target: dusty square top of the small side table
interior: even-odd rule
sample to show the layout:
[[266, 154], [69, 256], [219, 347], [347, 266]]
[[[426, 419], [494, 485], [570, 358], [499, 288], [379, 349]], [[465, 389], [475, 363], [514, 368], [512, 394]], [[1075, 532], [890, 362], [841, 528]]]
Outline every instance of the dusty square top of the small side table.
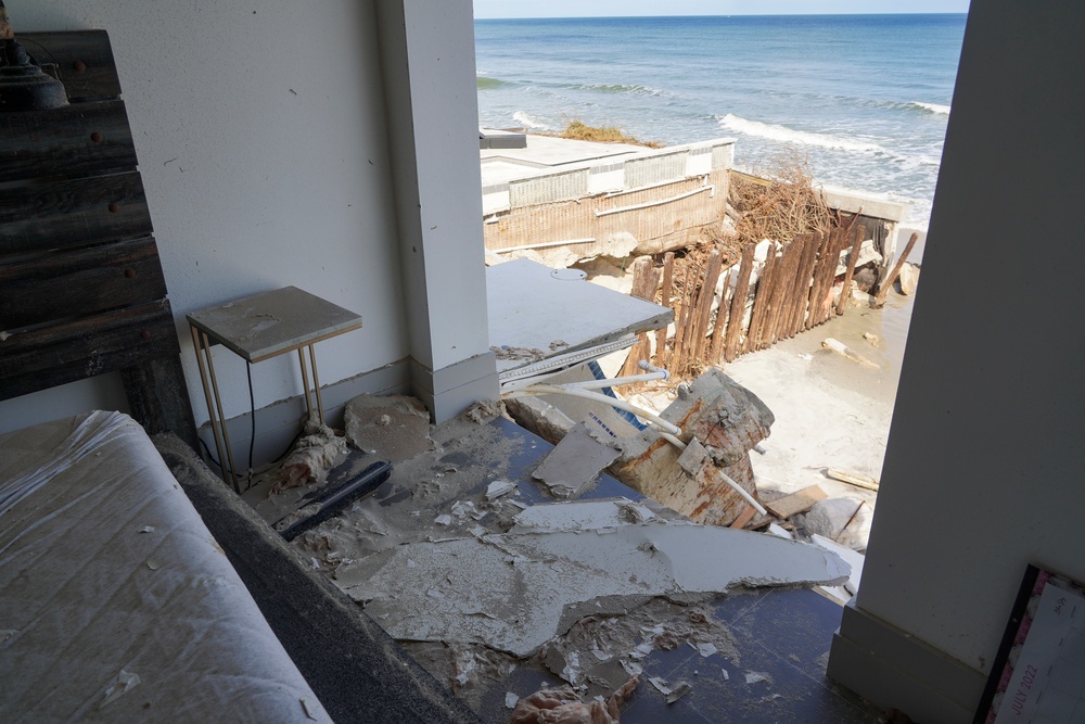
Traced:
[[361, 327], [361, 316], [296, 287], [186, 315], [189, 323], [250, 363]]

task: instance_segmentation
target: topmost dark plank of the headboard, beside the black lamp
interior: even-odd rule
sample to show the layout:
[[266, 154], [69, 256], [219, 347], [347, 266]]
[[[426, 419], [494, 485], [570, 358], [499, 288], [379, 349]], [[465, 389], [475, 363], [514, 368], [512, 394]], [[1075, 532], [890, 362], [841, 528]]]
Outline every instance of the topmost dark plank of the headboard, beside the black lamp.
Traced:
[[68, 100], [80, 102], [120, 94], [120, 79], [105, 30], [20, 33], [18, 41], [39, 63], [56, 66]]

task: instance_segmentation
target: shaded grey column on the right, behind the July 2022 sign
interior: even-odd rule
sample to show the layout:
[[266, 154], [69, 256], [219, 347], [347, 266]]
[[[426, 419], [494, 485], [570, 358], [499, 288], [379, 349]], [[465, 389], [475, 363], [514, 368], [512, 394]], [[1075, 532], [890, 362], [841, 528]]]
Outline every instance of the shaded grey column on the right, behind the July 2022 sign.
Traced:
[[969, 722], [1027, 563], [1085, 580], [1085, 5], [972, 3], [859, 593], [829, 674]]

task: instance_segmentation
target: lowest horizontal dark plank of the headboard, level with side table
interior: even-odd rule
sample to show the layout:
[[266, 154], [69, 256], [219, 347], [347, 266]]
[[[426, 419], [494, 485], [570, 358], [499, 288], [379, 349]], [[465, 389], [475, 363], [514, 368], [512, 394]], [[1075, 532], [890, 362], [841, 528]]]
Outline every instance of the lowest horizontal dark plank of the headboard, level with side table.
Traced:
[[179, 353], [166, 300], [11, 334], [0, 342], [0, 399]]

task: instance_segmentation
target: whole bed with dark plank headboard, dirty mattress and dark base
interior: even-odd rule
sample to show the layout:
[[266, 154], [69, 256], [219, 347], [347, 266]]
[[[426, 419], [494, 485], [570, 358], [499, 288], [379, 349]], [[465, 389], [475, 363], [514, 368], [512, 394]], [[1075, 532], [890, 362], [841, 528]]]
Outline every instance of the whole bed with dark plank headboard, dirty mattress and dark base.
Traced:
[[0, 436], [0, 721], [476, 721], [193, 453], [108, 37], [18, 40], [71, 105], [0, 113], [0, 399], [129, 414]]

